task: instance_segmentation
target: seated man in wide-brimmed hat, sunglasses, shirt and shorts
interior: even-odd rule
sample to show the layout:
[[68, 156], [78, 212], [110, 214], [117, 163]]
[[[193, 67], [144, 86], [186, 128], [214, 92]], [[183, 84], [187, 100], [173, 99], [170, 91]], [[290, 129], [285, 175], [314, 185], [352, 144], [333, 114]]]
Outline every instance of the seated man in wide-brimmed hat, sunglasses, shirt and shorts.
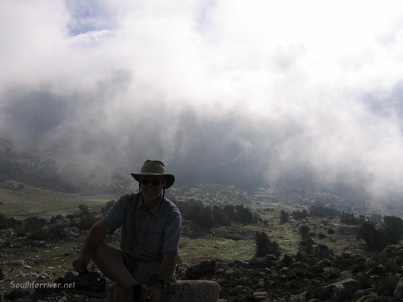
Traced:
[[[175, 181], [160, 161], [147, 160], [140, 173], [138, 193], [119, 198], [101, 221], [94, 224], [73, 261], [82, 270], [93, 259], [102, 273], [116, 282], [113, 300], [158, 302], [171, 282], [181, 233], [178, 208], [165, 196]], [[103, 239], [121, 229], [120, 250]]]

